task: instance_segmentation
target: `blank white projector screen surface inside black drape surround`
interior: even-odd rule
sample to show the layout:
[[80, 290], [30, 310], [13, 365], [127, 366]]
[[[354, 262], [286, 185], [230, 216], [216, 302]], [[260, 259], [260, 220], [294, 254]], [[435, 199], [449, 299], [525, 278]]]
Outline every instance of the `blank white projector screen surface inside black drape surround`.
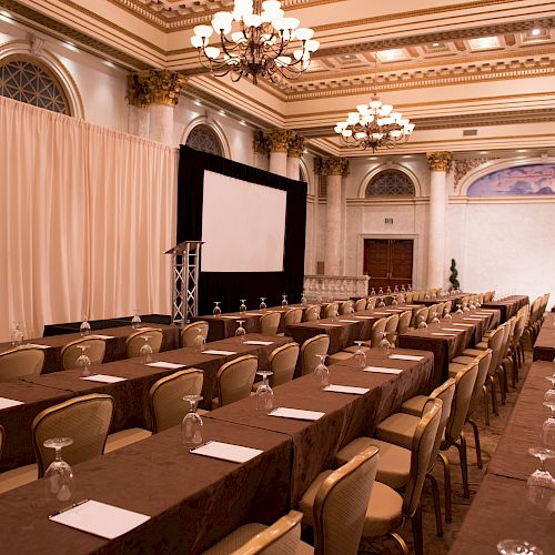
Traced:
[[282, 272], [287, 193], [204, 171], [202, 272]]

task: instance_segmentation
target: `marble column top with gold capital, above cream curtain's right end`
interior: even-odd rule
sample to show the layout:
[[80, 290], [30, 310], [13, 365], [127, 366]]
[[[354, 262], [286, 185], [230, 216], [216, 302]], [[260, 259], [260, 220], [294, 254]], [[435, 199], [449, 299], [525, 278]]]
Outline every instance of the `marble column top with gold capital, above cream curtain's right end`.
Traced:
[[[129, 130], [149, 137], [153, 141], [174, 144], [173, 111], [179, 102], [179, 93], [185, 84], [185, 78], [169, 70], [150, 70], [132, 73], [128, 77], [128, 100], [130, 104]], [[144, 117], [137, 110], [149, 109], [148, 127]], [[148, 129], [148, 134], [147, 133]]]

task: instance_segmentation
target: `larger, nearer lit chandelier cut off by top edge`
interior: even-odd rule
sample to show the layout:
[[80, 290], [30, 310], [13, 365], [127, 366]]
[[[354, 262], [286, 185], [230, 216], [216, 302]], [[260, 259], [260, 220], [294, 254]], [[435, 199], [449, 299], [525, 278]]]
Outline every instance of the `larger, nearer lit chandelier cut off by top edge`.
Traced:
[[[283, 16], [278, 0], [235, 0], [233, 12], [220, 11], [212, 26], [196, 26], [191, 43], [215, 77], [231, 73], [234, 82], [251, 77], [254, 84], [259, 78], [280, 83], [306, 71], [311, 53], [320, 47], [312, 29]], [[211, 47], [214, 32], [219, 42]]]

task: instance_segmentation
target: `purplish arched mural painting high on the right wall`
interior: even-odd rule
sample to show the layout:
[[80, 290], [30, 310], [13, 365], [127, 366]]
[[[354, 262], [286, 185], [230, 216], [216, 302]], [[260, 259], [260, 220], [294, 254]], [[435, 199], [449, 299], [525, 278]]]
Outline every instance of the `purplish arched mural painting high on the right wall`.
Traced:
[[529, 196], [555, 194], [555, 164], [505, 168], [476, 180], [468, 196]]

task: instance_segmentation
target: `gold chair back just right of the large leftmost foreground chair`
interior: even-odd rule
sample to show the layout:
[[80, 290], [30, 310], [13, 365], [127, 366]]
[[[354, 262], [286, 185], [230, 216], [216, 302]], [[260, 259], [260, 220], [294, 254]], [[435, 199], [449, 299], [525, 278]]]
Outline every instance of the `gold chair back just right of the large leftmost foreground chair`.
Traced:
[[204, 372], [198, 369], [181, 370], [162, 377], [150, 389], [149, 404], [152, 433], [179, 426], [190, 410], [184, 395], [200, 395]]

